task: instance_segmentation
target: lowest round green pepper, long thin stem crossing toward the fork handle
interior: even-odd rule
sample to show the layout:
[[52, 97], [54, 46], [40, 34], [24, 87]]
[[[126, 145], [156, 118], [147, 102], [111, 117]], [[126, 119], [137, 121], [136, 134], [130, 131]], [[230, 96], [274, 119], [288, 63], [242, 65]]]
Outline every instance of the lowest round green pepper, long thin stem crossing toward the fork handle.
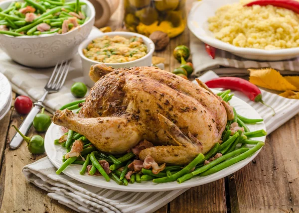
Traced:
[[44, 139], [40, 135], [33, 135], [29, 138], [23, 135], [15, 125], [12, 126], [22, 136], [24, 141], [26, 141], [29, 152], [32, 154], [42, 154], [45, 152]]

